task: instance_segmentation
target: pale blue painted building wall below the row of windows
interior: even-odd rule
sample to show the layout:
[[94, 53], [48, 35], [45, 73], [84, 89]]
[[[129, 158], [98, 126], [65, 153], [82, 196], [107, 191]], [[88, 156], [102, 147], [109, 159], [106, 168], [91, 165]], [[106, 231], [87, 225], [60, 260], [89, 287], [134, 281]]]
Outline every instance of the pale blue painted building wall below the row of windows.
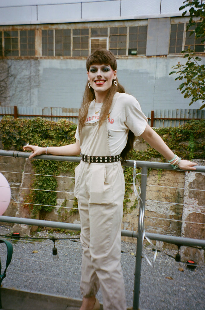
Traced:
[[[8, 83], [10, 94], [1, 100], [2, 106], [80, 108], [87, 83], [85, 60], [6, 61], [15, 79]], [[169, 76], [178, 61], [174, 56], [118, 59], [118, 79], [147, 115], [156, 109], [189, 108], [190, 100], [177, 90], [181, 82]], [[191, 106], [199, 107], [199, 103]]]

